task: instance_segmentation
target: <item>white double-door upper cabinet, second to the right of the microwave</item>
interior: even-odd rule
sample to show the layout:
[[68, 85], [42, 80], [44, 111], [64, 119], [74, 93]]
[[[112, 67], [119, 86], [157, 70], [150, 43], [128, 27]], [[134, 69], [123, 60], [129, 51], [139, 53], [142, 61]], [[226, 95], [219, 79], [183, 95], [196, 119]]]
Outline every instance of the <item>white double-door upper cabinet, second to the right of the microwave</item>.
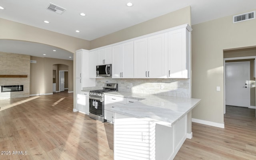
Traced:
[[134, 78], [166, 78], [165, 36], [134, 40]]

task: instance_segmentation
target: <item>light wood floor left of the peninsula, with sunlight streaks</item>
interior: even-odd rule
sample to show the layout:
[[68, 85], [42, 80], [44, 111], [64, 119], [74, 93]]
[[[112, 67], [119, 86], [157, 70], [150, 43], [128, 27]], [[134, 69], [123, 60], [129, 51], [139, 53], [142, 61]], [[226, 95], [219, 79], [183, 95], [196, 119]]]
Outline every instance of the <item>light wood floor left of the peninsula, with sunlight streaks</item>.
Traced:
[[113, 160], [113, 125], [72, 108], [64, 92], [0, 111], [0, 160]]

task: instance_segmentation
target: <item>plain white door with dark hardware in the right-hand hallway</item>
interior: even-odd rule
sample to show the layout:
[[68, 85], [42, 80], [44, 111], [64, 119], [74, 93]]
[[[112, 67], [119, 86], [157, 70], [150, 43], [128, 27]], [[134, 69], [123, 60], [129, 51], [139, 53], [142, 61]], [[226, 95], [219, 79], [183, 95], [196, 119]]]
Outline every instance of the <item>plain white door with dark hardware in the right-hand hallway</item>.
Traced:
[[250, 62], [226, 63], [226, 105], [249, 107]]

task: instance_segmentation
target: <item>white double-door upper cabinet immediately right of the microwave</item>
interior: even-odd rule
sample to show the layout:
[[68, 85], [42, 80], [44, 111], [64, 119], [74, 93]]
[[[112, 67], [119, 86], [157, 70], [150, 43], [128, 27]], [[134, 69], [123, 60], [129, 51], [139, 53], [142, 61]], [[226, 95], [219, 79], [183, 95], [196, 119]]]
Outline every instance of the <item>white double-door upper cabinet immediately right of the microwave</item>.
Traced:
[[133, 41], [112, 47], [112, 78], [133, 78]]

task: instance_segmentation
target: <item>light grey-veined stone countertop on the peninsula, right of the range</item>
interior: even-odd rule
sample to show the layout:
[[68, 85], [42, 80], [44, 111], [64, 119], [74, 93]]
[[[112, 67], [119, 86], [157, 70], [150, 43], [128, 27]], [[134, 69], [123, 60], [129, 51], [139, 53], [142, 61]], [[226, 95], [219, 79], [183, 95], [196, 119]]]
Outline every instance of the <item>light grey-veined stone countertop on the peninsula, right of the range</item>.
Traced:
[[110, 92], [104, 95], [140, 99], [140, 101], [127, 105], [120, 104], [110, 111], [170, 127], [201, 101], [200, 99], [129, 92]]

